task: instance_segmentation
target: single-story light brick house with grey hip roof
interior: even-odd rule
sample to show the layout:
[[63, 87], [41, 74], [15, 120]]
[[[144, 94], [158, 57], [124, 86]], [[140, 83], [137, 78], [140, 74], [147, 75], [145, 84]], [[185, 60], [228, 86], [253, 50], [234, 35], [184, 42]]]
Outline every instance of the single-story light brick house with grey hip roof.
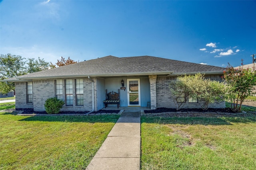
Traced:
[[[170, 82], [184, 74], [205, 74], [206, 78], [222, 81], [225, 68], [188, 63], [159, 57], [107, 56], [61, 66], [15, 78], [16, 108], [33, 108], [44, 111], [46, 99], [57, 97], [65, 101], [61, 111], [97, 111], [104, 107], [108, 92], [120, 89], [121, 107], [176, 108], [170, 92]], [[121, 88], [121, 81], [124, 87]], [[201, 108], [203, 101], [188, 101], [184, 108]], [[109, 104], [108, 107], [117, 107]], [[225, 102], [209, 107], [223, 108]]]

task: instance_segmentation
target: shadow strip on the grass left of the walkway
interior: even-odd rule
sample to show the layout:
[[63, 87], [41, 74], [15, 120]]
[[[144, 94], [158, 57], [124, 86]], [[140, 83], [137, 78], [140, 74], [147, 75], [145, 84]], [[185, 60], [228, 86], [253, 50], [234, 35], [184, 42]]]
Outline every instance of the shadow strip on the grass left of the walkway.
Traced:
[[19, 121], [60, 121], [60, 122], [86, 122], [86, 123], [116, 123], [120, 115], [95, 115], [95, 116], [32, 116]]

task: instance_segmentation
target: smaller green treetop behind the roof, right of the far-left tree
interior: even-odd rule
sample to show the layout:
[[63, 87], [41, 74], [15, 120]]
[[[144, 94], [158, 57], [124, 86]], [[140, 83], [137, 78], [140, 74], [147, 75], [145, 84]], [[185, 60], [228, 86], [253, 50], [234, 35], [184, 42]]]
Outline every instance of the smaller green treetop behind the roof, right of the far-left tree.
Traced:
[[44, 59], [40, 59], [40, 57], [38, 57], [37, 60], [28, 59], [27, 64], [28, 64], [28, 68], [27, 68], [28, 73], [48, 70], [50, 67], [49, 62], [44, 61]]

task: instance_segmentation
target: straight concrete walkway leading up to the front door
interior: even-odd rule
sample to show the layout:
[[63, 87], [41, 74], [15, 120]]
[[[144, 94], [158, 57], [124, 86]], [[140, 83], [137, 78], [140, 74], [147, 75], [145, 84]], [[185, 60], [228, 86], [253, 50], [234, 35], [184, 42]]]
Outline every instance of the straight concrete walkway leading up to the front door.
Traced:
[[140, 169], [140, 111], [124, 111], [86, 170]]

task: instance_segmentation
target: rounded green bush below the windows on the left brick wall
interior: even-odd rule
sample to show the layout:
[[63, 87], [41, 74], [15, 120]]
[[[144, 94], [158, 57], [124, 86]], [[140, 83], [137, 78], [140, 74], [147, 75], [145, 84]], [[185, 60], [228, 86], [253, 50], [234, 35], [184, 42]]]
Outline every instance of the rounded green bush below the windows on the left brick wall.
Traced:
[[63, 100], [57, 98], [48, 98], [45, 101], [44, 108], [48, 114], [57, 114], [60, 112], [60, 109], [65, 104]]

